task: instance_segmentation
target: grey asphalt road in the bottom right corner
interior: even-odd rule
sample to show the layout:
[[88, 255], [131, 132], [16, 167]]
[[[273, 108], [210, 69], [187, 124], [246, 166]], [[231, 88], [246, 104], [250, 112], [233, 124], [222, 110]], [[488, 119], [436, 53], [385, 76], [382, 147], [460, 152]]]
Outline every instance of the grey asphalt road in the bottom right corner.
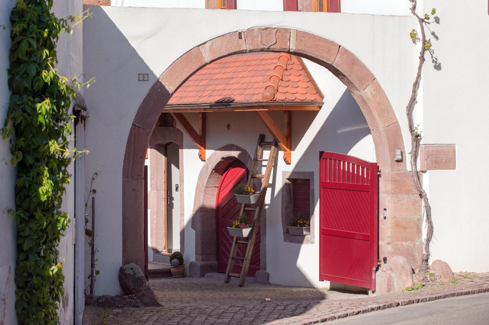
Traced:
[[342, 325], [489, 325], [489, 293], [378, 310], [332, 323]]

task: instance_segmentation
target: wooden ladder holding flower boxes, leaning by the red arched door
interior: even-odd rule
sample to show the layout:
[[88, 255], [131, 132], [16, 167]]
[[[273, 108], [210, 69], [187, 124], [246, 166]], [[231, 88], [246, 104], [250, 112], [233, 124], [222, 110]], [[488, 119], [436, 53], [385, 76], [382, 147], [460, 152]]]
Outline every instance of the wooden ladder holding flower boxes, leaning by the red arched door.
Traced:
[[[226, 279], [225, 283], [229, 283], [231, 281], [231, 277], [240, 278], [239, 286], [244, 286], [244, 281], [246, 280], [246, 273], [248, 272], [248, 267], [251, 262], [251, 255], [253, 253], [253, 246], [255, 244], [255, 238], [258, 230], [260, 229], [260, 217], [262, 215], [263, 205], [265, 204], [265, 196], [267, 195], [268, 182], [270, 180], [270, 175], [272, 173], [273, 164], [275, 163], [275, 157], [277, 155], [277, 141], [273, 140], [272, 142], [264, 142], [265, 135], [260, 134], [258, 137], [258, 142], [256, 144], [255, 157], [253, 158], [253, 166], [251, 168], [251, 173], [248, 176], [248, 186], [253, 187], [253, 183], [255, 179], [262, 179], [262, 187], [260, 189], [260, 198], [258, 199], [258, 203], [256, 203], [256, 207], [246, 207], [247, 203], [241, 204], [240, 214], [241, 216], [244, 211], [255, 211], [255, 215], [253, 217], [253, 225], [250, 231], [250, 235], [248, 235], [248, 240], [240, 240], [241, 237], [234, 237], [233, 244], [231, 246], [231, 253], [229, 255], [229, 261], [227, 262], [226, 269]], [[268, 159], [262, 159], [263, 147], [270, 147], [270, 154]], [[265, 174], [258, 174], [258, 165], [260, 163], [266, 162]], [[262, 165], [261, 168], [264, 166]], [[244, 257], [238, 257], [238, 245], [247, 245], [246, 253]], [[241, 273], [232, 273], [234, 267], [234, 261], [242, 260], [243, 267], [241, 268]]]

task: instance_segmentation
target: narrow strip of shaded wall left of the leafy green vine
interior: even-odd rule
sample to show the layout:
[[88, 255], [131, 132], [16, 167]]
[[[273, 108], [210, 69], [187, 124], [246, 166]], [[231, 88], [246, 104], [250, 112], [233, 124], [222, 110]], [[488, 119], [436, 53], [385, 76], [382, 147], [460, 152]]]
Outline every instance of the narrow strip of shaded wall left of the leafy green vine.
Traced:
[[[0, 24], [10, 28], [10, 10], [14, 2], [0, 3]], [[10, 30], [0, 30], [0, 125], [7, 114], [10, 92], [7, 85]], [[0, 324], [16, 324], [15, 315], [15, 260], [16, 226], [6, 210], [15, 208], [14, 186], [16, 169], [7, 164], [11, 158], [10, 143], [0, 139]]]

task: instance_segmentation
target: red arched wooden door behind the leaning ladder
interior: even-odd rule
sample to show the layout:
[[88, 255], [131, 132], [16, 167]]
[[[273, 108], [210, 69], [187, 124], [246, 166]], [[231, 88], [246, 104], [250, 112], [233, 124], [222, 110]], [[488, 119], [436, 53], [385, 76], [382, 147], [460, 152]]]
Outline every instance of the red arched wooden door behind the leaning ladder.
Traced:
[[[247, 181], [248, 170], [244, 163], [237, 160], [229, 165], [229, 168], [222, 175], [216, 195], [216, 244], [217, 244], [217, 264], [218, 272], [225, 273], [229, 253], [233, 238], [229, 235], [227, 226], [238, 218], [241, 204], [236, 201], [233, 188], [238, 184], [245, 184]], [[253, 222], [253, 215], [250, 213], [250, 223]], [[238, 256], [244, 257], [246, 245], [240, 245]], [[241, 272], [242, 261], [236, 260], [232, 272]], [[256, 235], [253, 255], [248, 268], [247, 276], [254, 277], [256, 271], [260, 269], [260, 231]]]

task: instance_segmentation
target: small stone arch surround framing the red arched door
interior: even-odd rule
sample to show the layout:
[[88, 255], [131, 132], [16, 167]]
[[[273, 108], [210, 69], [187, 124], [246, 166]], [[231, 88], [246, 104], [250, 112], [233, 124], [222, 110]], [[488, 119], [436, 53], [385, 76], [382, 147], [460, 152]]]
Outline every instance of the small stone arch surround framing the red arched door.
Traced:
[[[194, 208], [192, 211], [192, 229], [195, 230], [195, 261], [190, 262], [189, 274], [202, 277], [207, 272], [217, 272], [216, 262], [216, 193], [222, 174], [228, 166], [240, 160], [251, 170], [253, 159], [242, 147], [235, 144], [226, 144], [216, 149], [207, 158], [200, 170], [195, 189]], [[255, 186], [261, 187], [261, 182], [255, 180]], [[257, 279], [266, 279], [267, 269], [267, 212], [264, 210], [260, 220], [260, 271]], [[261, 273], [260, 273], [261, 272]]]

